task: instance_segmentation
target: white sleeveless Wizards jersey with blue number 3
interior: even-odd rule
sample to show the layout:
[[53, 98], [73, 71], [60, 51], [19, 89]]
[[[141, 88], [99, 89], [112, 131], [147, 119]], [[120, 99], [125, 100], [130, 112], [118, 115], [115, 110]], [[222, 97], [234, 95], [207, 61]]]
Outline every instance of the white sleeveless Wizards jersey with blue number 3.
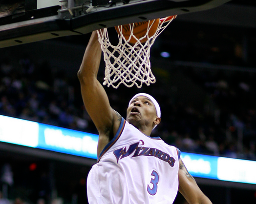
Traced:
[[122, 119], [87, 178], [89, 204], [172, 204], [180, 151]]

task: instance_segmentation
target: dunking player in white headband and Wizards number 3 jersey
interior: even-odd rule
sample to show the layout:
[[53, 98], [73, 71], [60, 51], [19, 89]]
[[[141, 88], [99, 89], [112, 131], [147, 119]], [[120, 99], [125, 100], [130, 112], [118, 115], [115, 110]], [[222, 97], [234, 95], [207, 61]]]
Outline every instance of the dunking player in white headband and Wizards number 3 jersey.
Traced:
[[189, 174], [180, 151], [149, 137], [161, 121], [152, 96], [135, 95], [126, 120], [110, 107], [97, 80], [101, 52], [94, 31], [78, 71], [85, 108], [99, 131], [98, 163], [87, 178], [89, 204], [172, 204], [178, 190], [190, 204], [212, 204]]

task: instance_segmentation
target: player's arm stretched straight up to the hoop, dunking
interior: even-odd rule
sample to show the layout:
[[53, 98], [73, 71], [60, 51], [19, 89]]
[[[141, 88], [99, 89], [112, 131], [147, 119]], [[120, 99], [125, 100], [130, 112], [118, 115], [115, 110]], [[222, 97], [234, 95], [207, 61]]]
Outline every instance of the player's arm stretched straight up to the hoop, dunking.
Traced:
[[120, 124], [120, 116], [110, 107], [107, 93], [97, 80], [101, 61], [101, 47], [96, 31], [92, 32], [85, 55], [78, 71], [85, 109], [99, 131], [97, 153], [109, 142]]

